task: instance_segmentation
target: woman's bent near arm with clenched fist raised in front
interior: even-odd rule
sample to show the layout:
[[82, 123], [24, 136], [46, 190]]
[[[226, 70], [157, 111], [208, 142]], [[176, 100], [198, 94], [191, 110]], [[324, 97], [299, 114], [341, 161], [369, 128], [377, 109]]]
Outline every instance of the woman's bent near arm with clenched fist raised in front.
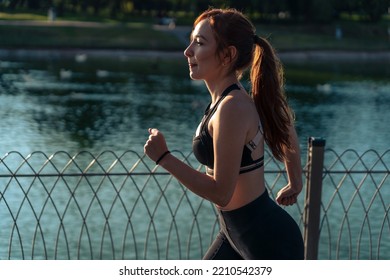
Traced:
[[[246, 135], [242, 117], [239, 118], [243, 112], [236, 108], [232, 113], [234, 103], [225, 100], [224, 103], [213, 117], [213, 177], [193, 169], [170, 153], [159, 162], [186, 188], [221, 207], [226, 206], [233, 196]], [[149, 129], [149, 134], [144, 151], [156, 161], [168, 148], [163, 134], [157, 129]]]

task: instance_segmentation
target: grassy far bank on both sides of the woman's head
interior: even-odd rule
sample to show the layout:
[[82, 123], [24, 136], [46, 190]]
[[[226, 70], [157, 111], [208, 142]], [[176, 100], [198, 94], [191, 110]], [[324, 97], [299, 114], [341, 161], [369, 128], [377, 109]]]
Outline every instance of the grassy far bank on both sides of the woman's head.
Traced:
[[[24, 24], [12, 25], [15, 20]], [[90, 22], [84, 26], [82, 21], [78, 24], [71, 24], [72, 21], [49, 23], [43, 15], [0, 13], [0, 48], [183, 50], [184, 43], [178, 39], [177, 32], [157, 30], [153, 28], [153, 22], [152, 18], [132, 23], [102, 20], [94, 22], [95, 26]], [[336, 38], [337, 27], [341, 30], [341, 38]], [[269, 38], [279, 51], [390, 51], [388, 28], [387, 22], [261, 24], [257, 26], [257, 33]]]

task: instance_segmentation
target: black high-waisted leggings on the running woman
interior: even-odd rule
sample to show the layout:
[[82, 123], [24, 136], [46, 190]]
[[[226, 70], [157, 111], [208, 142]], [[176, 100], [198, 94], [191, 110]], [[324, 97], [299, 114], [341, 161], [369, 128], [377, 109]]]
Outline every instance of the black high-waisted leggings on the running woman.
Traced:
[[304, 258], [301, 231], [293, 218], [265, 191], [253, 202], [219, 211], [221, 230], [205, 260], [299, 260]]

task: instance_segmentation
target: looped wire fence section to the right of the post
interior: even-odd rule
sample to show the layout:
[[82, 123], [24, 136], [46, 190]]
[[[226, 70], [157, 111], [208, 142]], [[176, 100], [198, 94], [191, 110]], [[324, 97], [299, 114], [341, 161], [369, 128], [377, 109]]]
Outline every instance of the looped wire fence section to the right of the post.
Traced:
[[319, 256], [390, 259], [390, 150], [325, 153]]

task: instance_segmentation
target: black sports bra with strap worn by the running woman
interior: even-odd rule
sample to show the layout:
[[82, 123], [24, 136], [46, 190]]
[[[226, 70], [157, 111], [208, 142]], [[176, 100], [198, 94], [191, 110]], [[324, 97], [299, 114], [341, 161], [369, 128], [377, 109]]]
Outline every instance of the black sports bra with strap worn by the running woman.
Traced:
[[[197, 160], [208, 167], [207, 173], [212, 174], [212, 169], [214, 168], [214, 147], [213, 147], [213, 138], [211, 137], [209, 131], [208, 131], [208, 123], [215, 113], [215, 111], [218, 108], [218, 105], [221, 103], [221, 101], [233, 90], [240, 89], [238, 85], [233, 84], [229, 86], [225, 91], [222, 93], [219, 100], [216, 102], [216, 104], [213, 106], [213, 108], [210, 109], [211, 103], [207, 106], [205, 110], [205, 114], [203, 116], [203, 119], [201, 123], [199, 124], [199, 127], [197, 129], [197, 133], [194, 136], [192, 140], [192, 150], [194, 152], [195, 157]], [[246, 173], [252, 170], [255, 170], [257, 168], [260, 168], [264, 165], [264, 156], [253, 160], [252, 159], [252, 152], [256, 149], [256, 147], [259, 145], [261, 139], [262, 139], [263, 131], [261, 127], [261, 123], [259, 122], [259, 130], [256, 134], [256, 136], [249, 141], [244, 146], [243, 152], [242, 152], [242, 158], [241, 158], [241, 167], [240, 167], [240, 174]]]

